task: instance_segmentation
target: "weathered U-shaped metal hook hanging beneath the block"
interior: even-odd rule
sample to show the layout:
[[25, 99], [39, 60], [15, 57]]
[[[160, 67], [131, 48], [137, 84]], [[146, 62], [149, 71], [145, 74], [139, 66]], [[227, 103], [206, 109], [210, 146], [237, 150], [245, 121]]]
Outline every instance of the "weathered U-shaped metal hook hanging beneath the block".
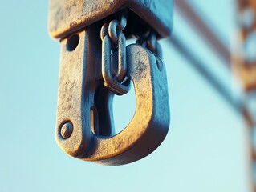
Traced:
[[[126, 48], [126, 75], [135, 87], [136, 113], [129, 125], [115, 135], [113, 94], [103, 86], [97, 30], [99, 26], [90, 26], [61, 42], [56, 140], [76, 158], [122, 165], [152, 153], [169, 130], [166, 71], [161, 59], [144, 47]], [[67, 49], [76, 35], [78, 45]], [[72, 125], [71, 135], [68, 130], [69, 137], [63, 138], [63, 126], [66, 129], [67, 123]]]

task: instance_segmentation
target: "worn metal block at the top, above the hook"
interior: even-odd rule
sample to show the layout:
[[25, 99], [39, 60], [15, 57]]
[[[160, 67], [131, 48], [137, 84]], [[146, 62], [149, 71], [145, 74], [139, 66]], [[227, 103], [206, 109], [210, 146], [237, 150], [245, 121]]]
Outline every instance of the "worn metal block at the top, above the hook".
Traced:
[[[73, 32], [124, 9], [132, 10], [130, 14], [138, 15], [161, 37], [170, 34], [173, 0], [51, 0], [49, 13], [51, 37], [66, 38]], [[140, 23], [137, 26], [137, 30], [140, 30]]]

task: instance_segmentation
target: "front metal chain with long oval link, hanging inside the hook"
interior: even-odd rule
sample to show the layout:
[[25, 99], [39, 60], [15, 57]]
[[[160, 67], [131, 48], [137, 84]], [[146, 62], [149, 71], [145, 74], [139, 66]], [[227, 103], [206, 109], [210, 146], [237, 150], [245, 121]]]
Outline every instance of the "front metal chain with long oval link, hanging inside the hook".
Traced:
[[[104, 86], [113, 93], [122, 95], [130, 90], [130, 79], [126, 78], [126, 38], [123, 30], [126, 26], [126, 18], [121, 16], [120, 20], [112, 20], [105, 23], [101, 28], [100, 37], [102, 40], [102, 76]], [[118, 69], [116, 75], [112, 76], [111, 51], [112, 47], [118, 49]]]

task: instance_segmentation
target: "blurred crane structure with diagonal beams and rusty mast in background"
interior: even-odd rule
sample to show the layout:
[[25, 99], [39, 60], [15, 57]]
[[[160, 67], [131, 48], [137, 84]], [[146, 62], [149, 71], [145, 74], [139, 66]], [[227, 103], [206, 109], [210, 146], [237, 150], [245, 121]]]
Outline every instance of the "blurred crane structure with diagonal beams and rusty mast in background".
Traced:
[[223, 82], [203, 65], [198, 55], [192, 54], [187, 48], [182, 38], [176, 34], [170, 38], [173, 46], [179, 50], [185, 58], [188, 59], [194, 68], [217, 90], [234, 110], [241, 114], [246, 122], [246, 132], [248, 133], [248, 167], [250, 178], [250, 191], [256, 192], [256, 1], [255, 0], [236, 0], [234, 1], [236, 9], [236, 17], [234, 21], [237, 23], [238, 32], [234, 43], [234, 51], [225, 46], [225, 43], [219, 38], [217, 30], [212, 30], [203, 20], [204, 15], [198, 11], [191, 2], [185, 0], [177, 0], [175, 9], [189, 26], [200, 34], [205, 43], [213, 50], [214, 54], [221, 59], [222, 63], [230, 71], [233, 78], [236, 79], [236, 86], [242, 90], [242, 94], [238, 100], [234, 100], [232, 93], [226, 89]]

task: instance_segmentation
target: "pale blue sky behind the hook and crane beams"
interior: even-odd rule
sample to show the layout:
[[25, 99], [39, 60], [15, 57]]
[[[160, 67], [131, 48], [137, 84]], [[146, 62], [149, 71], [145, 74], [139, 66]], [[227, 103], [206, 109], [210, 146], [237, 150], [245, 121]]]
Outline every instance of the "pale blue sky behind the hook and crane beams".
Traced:
[[[234, 25], [231, 1], [193, 2], [229, 42]], [[248, 191], [242, 117], [165, 39], [161, 44], [172, 114], [165, 142], [147, 158], [126, 166], [99, 166], [64, 154], [55, 143], [60, 45], [47, 32], [48, 2], [9, 0], [1, 5], [2, 192]], [[174, 28], [173, 33], [181, 35], [231, 86], [230, 76], [217, 67], [220, 61], [177, 13]], [[132, 118], [132, 97], [131, 92], [115, 99], [117, 127]]]

